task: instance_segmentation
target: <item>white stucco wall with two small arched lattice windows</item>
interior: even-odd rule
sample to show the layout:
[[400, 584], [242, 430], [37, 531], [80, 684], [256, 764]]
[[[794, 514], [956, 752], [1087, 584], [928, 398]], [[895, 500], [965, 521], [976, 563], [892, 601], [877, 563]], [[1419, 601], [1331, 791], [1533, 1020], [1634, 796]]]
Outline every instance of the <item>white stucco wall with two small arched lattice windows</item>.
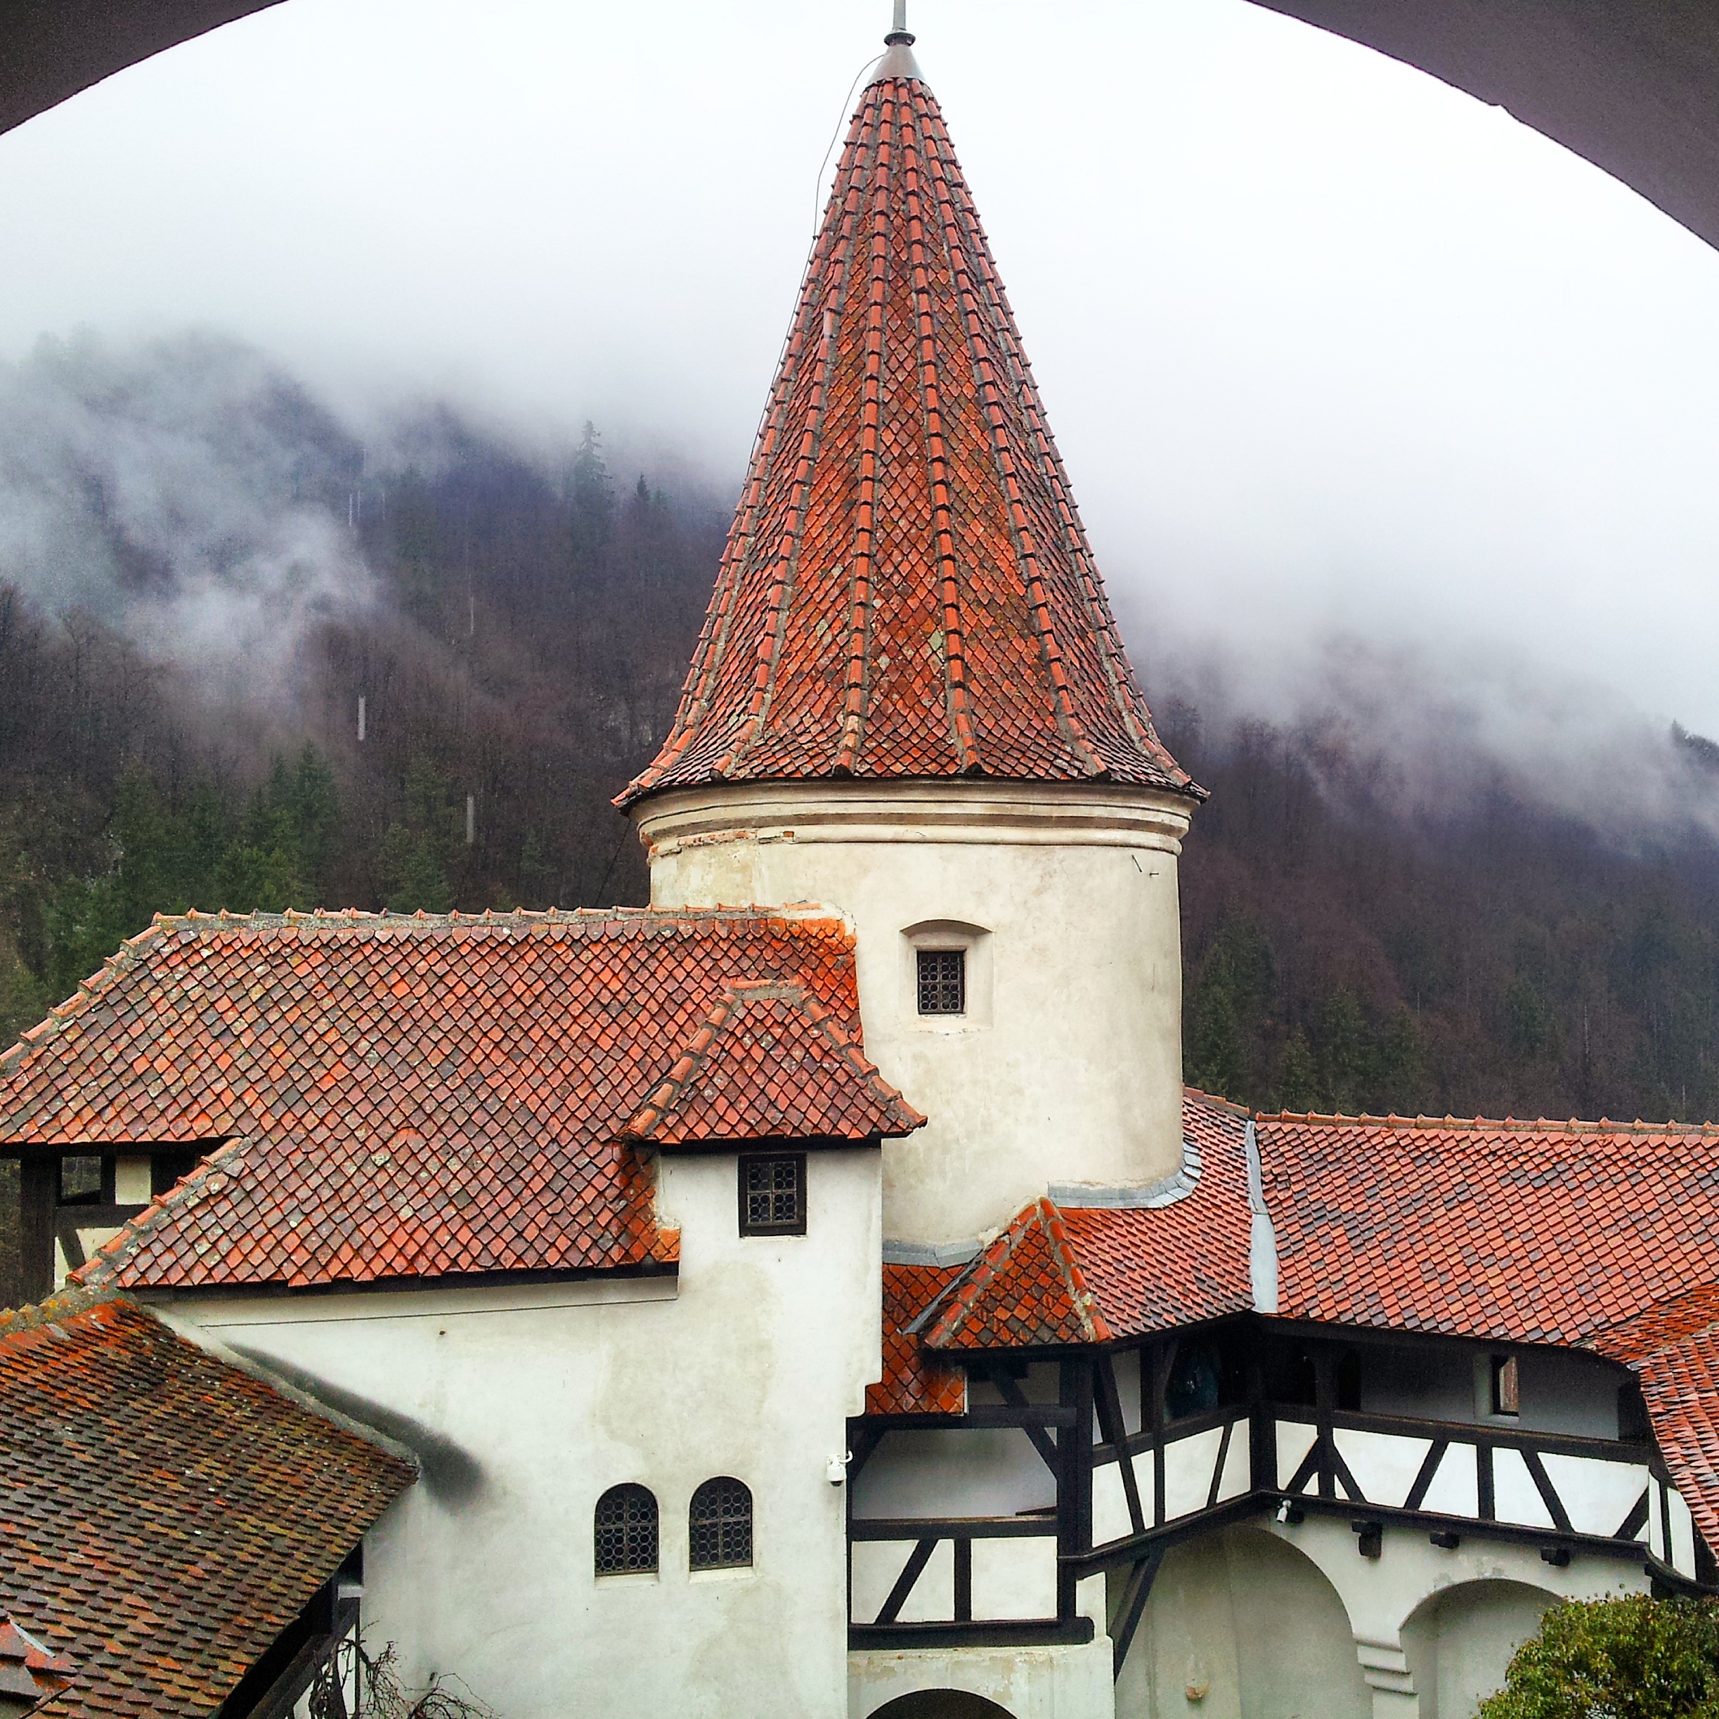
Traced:
[[[664, 1159], [658, 1198], [677, 1286], [162, 1312], [428, 1451], [364, 1556], [366, 1633], [399, 1642], [409, 1681], [457, 1673], [502, 1719], [846, 1719], [846, 1499], [825, 1465], [880, 1372], [878, 1152], [811, 1153], [804, 1236], [737, 1234], [732, 1155]], [[753, 1490], [755, 1563], [689, 1575], [688, 1504], [713, 1475]], [[660, 1569], [596, 1578], [593, 1509], [629, 1480], [657, 1496]], [[744, 1690], [768, 1697], [743, 1709]]]

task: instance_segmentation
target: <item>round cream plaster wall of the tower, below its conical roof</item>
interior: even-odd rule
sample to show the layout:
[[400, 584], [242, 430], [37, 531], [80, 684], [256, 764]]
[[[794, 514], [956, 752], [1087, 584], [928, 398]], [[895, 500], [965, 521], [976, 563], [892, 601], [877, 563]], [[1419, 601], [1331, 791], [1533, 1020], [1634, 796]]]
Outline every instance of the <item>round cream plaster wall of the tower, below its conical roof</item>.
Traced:
[[[956, 1243], [1054, 1183], [1181, 1165], [1190, 803], [1104, 786], [736, 784], [634, 817], [655, 908], [830, 906], [866, 1054], [930, 1126], [884, 1148], [885, 1236]], [[970, 947], [963, 1019], [918, 1014], [915, 940]]]

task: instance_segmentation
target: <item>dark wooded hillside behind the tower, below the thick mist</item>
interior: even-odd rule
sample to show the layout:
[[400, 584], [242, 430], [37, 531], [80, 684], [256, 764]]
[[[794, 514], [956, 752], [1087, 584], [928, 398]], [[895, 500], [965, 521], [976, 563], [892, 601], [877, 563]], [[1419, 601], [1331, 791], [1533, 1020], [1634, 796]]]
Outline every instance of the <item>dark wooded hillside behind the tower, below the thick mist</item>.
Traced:
[[[363, 571], [352, 602], [285, 603], [237, 660], [218, 629], [180, 648], [138, 621], [172, 557], [101, 485], [86, 550], [124, 603], [0, 584], [5, 1038], [156, 911], [645, 899], [609, 799], [672, 715], [724, 502], [610, 473], [595, 430], [554, 462], [431, 414], [366, 464], [301, 394], [270, 414], [275, 481]], [[1698, 820], [1619, 846], [1502, 777], [1432, 815], [1341, 722], [1148, 696], [1212, 791], [1183, 863], [1190, 1080], [1262, 1107], [1719, 1116]], [[1710, 806], [1719, 748], [1664, 748]]]

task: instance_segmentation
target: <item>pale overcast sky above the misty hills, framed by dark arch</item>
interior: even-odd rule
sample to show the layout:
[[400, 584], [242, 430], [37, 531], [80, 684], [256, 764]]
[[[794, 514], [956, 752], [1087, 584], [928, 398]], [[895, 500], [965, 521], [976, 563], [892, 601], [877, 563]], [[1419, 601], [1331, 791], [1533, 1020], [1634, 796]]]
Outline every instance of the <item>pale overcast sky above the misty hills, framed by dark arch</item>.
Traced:
[[[1148, 677], [1719, 731], [1719, 254], [1243, 0], [909, 21]], [[215, 327], [354, 413], [593, 416], [734, 483], [885, 26], [289, 0], [0, 138], [0, 358]]]

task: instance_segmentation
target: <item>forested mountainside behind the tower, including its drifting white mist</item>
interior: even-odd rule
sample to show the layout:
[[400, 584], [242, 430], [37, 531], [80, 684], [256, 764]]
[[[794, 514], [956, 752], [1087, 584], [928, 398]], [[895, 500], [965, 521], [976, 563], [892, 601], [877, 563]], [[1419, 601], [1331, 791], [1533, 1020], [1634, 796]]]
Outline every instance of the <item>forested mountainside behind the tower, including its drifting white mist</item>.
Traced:
[[[643, 902], [609, 799], [667, 731], [729, 505], [591, 426], [545, 449], [430, 404], [361, 435], [215, 337], [0, 371], [0, 1040], [158, 911]], [[1188, 1078], [1719, 1116], [1719, 746], [1590, 720], [1525, 767], [1463, 689], [1380, 676], [1392, 724], [1312, 665], [1265, 720], [1153, 660], [1212, 792]]]

